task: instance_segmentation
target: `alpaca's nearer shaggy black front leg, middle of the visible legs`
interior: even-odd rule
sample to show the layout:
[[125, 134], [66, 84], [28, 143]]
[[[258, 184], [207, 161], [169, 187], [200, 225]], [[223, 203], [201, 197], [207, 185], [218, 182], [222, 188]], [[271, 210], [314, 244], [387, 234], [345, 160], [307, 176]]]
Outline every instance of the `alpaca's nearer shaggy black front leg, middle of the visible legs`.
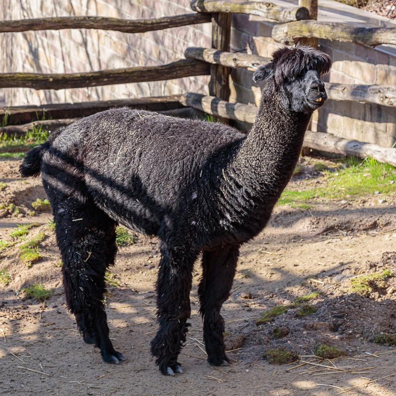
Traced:
[[177, 357], [186, 342], [190, 317], [190, 290], [195, 257], [162, 251], [157, 289], [159, 330], [151, 342], [151, 353], [162, 374], [183, 370]]

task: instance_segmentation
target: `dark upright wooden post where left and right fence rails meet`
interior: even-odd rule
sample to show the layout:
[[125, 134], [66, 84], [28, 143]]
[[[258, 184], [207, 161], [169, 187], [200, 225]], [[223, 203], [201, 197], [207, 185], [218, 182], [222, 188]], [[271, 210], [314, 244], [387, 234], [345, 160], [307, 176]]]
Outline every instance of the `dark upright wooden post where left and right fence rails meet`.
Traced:
[[[212, 48], [222, 51], [230, 51], [231, 40], [231, 12], [212, 14]], [[230, 98], [231, 69], [222, 65], [210, 66], [209, 95], [227, 100]], [[228, 123], [226, 118], [220, 121]]]

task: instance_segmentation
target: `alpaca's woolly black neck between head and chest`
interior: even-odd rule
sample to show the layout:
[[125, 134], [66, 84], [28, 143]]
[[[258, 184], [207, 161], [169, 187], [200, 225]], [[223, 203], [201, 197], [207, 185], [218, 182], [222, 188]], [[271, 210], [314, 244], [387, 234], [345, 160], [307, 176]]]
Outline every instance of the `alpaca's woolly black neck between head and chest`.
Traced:
[[[285, 109], [264, 93], [255, 123], [235, 158], [235, 171], [255, 204], [279, 198], [293, 175], [311, 114]], [[256, 206], [255, 205], [255, 206]]]

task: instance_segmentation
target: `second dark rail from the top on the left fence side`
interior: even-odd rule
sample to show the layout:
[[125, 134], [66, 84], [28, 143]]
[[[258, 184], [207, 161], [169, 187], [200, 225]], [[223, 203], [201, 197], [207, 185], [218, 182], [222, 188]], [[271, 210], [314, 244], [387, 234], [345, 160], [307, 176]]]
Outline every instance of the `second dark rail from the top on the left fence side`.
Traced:
[[210, 66], [207, 63], [193, 59], [181, 59], [166, 65], [129, 67], [87, 73], [1, 73], [0, 88], [59, 90], [173, 80], [183, 77], [208, 75], [209, 73]]

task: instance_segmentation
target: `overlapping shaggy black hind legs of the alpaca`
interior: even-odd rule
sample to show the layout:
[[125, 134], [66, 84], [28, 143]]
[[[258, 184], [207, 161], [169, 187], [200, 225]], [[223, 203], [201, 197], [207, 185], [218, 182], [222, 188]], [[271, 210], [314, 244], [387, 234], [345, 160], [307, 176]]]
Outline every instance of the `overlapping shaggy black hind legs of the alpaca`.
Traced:
[[103, 304], [104, 274], [114, 263], [117, 251], [115, 222], [93, 203], [82, 205], [69, 198], [51, 204], [62, 255], [66, 303], [84, 341], [99, 347], [105, 362], [119, 363], [124, 356], [111, 344]]

